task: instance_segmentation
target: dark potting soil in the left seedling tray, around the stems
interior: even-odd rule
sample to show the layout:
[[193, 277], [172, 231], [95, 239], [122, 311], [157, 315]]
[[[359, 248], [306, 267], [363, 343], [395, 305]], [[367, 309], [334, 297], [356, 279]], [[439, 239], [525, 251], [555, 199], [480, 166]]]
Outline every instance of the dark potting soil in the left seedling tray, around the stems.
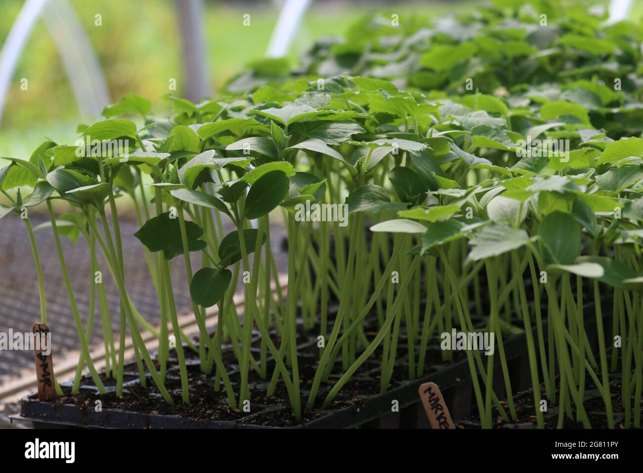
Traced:
[[[367, 323], [365, 336], [370, 342], [377, 333], [376, 320]], [[190, 403], [182, 403], [181, 400], [181, 378], [179, 366], [176, 359], [176, 351], [170, 351], [170, 358], [167, 365], [167, 376], [165, 386], [172, 396], [175, 405], [168, 405], [161, 397], [154, 381], [149, 373], [146, 373], [147, 387], [140, 384], [138, 369], [135, 363], [125, 366], [125, 392], [122, 397], [116, 396], [113, 378], [107, 378], [104, 373], [100, 377], [107, 387], [106, 394], [98, 394], [95, 390], [95, 384], [90, 376], [84, 376], [81, 382], [80, 393], [72, 394], [71, 386], [62, 387], [64, 395], [57, 398], [54, 405], [73, 404], [81, 411], [94, 409], [96, 400], [102, 402], [103, 409], [122, 409], [140, 414], [161, 414], [171, 416], [181, 416], [188, 420], [219, 420], [234, 421], [241, 424], [252, 425], [269, 425], [271, 427], [293, 427], [310, 422], [316, 418], [325, 416], [338, 409], [350, 408], [359, 413], [359, 410], [368, 403], [369, 398], [377, 396], [380, 393], [380, 374], [381, 364], [378, 361], [382, 357], [382, 346], [380, 346], [374, 356], [363, 363], [352, 378], [339, 391], [335, 400], [325, 409], [321, 408], [321, 403], [327, 393], [331, 391], [333, 385], [339, 380], [343, 369], [341, 368], [341, 357], [336, 360], [335, 367], [327, 382], [321, 382], [316, 405], [314, 409], [308, 409], [307, 400], [309, 390], [312, 385], [312, 379], [319, 360], [319, 349], [317, 347], [317, 335], [319, 328], [304, 330], [302, 325], [298, 325], [298, 367], [300, 376], [300, 393], [302, 400], [302, 418], [296, 420], [289, 403], [287, 391], [284, 382], [280, 380], [276, 385], [275, 392], [267, 395], [267, 389], [270, 384], [271, 376], [274, 371], [274, 361], [269, 357], [267, 361], [267, 377], [262, 379], [251, 366], [249, 373], [249, 388], [251, 392], [250, 412], [244, 412], [242, 406], [237, 409], [231, 409], [228, 403], [228, 397], [224, 391], [223, 384], [220, 384], [219, 391], [214, 390], [215, 369], [210, 374], [201, 373], [199, 364], [199, 355], [191, 349], [184, 346], [188, 384], [190, 393]], [[279, 346], [279, 337], [273, 333], [275, 345]], [[434, 338], [428, 344], [424, 375], [437, 371], [437, 366], [448, 366], [451, 363], [458, 362], [466, 358], [466, 353], [455, 351], [451, 362], [442, 360], [443, 352], [439, 346], [440, 340]], [[261, 339], [258, 333], [255, 333], [251, 345], [253, 356], [258, 361], [260, 356]], [[415, 364], [419, 359], [419, 347], [415, 346]], [[269, 355], [269, 353], [268, 353]], [[237, 394], [240, 388], [240, 371], [231, 346], [224, 346], [222, 358], [226, 367], [228, 367], [228, 376]], [[155, 364], [158, 363], [155, 360]], [[409, 380], [410, 370], [408, 367], [408, 344], [406, 337], [401, 333], [397, 346], [396, 362], [388, 390], [399, 387], [404, 381]]]

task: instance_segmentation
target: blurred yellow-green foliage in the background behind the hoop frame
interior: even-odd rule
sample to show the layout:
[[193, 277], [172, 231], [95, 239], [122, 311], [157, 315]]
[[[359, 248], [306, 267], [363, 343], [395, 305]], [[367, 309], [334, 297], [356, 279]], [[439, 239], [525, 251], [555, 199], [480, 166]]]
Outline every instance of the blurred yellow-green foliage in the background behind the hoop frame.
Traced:
[[[160, 97], [168, 91], [168, 80], [185, 77], [181, 60], [181, 40], [173, 0], [68, 0], [89, 35], [103, 68], [109, 95], [116, 102], [125, 93], [135, 92], [156, 98], [154, 109], [162, 111], [169, 104]], [[2, 0], [0, 41], [4, 42], [23, 0]], [[438, 17], [449, 12], [471, 10], [480, 2], [410, 2], [372, 8], [386, 8], [406, 17]], [[272, 1], [253, 3], [205, 1], [204, 33], [210, 70], [212, 95], [235, 73], [262, 57], [276, 24], [278, 9]], [[351, 1], [315, 3], [300, 28], [289, 54], [291, 64], [314, 39], [343, 34], [350, 24], [367, 13], [367, 6]], [[242, 24], [244, 14], [251, 15], [251, 25]], [[637, 15], [643, 13], [638, 7]], [[95, 26], [95, 15], [102, 15], [102, 26]], [[20, 89], [20, 79], [28, 79], [27, 91]], [[89, 118], [88, 118], [89, 119]], [[43, 136], [69, 142], [69, 130], [83, 122], [66, 77], [66, 72], [40, 20], [28, 40], [9, 90], [5, 114], [0, 125], [0, 156], [24, 158], [42, 141]]]

